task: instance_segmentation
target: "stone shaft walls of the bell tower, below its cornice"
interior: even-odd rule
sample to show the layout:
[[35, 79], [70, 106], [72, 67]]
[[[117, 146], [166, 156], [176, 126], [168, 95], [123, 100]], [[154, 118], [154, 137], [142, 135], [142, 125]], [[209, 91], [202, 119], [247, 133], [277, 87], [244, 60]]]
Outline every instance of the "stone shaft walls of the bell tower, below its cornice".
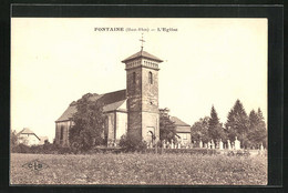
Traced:
[[157, 70], [145, 67], [126, 69], [128, 133], [136, 140], [151, 140], [148, 131], [160, 138]]

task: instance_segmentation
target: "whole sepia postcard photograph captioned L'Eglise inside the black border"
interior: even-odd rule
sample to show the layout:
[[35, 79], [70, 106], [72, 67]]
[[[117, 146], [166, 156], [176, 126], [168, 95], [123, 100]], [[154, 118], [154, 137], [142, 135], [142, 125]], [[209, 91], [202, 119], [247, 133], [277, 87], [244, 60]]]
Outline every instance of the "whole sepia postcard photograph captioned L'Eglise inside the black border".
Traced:
[[11, 18], [10, 185], [267, 185], [267, 18]]

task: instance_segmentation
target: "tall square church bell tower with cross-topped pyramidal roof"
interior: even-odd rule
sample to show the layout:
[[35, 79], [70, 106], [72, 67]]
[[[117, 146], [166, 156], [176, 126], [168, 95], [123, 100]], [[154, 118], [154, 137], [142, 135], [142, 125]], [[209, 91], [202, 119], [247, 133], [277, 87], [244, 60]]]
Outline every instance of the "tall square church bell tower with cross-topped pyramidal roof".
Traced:
[[158, 64], [163, 60], [143, 50], [126, 58], [127, 134], [135, 140], [160, 139]]

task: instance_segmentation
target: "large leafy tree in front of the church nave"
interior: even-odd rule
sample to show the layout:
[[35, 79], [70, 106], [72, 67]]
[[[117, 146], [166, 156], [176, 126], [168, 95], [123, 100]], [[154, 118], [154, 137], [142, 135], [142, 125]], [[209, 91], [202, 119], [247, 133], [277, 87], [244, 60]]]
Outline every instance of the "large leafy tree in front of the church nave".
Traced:
[[73, 126], [69, 133], [72, 148], [86, 151], [103, 143], [105, 115], [103, 104], [91, 100], [88, 93], [76, 101], [76, 113], [73, 114]]

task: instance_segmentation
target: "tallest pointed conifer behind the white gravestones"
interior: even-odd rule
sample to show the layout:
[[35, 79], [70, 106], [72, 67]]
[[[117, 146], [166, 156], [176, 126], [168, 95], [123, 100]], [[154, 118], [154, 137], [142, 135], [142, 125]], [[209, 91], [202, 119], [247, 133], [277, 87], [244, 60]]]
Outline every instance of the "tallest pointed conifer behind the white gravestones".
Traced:
[[237, 136], [245, 145], [247, 142], [248, 125], [249, 121], [247, 113], [245, 112], [240, 100], [237, 100], [233, 109], [229, 111], [227, 122], [225, 124], [229, 140], [234, 141], [235, 136]]

